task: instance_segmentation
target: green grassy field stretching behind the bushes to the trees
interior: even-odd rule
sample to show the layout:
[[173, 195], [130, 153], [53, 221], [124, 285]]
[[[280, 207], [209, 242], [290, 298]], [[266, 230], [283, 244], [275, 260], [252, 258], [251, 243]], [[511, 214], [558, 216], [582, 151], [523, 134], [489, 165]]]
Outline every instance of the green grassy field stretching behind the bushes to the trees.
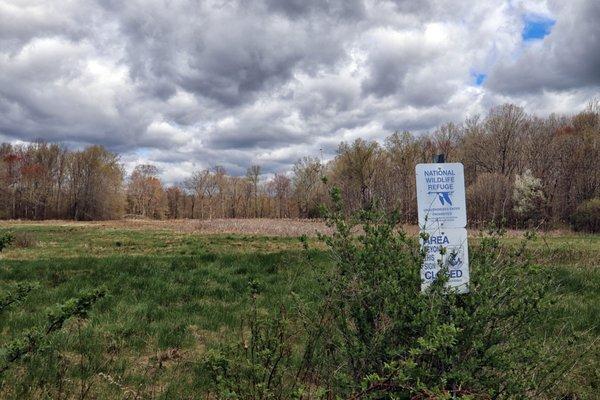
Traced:
[[[46, 307], [83, 289], [104, 286], [108, 296], [89, 320], [70, 322], [42, 354], [7, 371], [1, 399], [199, 398], [198, 360], [239, 335], [248, 282], [264, 288], [265, 312], [292, 307], [296, 296], [310, 304], [330, 265], [316, 239], [309, 264], [296, 238], [56, 224], [10, 231], [29, 240], [2, 253], [0, 289], [23, 281], [40, 287], [0, 315], [0, 345], [42, 324]], [[508, 245], [518, 240], [505, 239]], [[557, 351], [565, 354], [579, 354], [587, 340], [581, 361], [565, 372], [563, 391], [599, 398], [600, 236], [553, 235], [532, 245], [532, 257], [559, 282], [556, 303], [534, 332], [540, 340], [563, 336]]]

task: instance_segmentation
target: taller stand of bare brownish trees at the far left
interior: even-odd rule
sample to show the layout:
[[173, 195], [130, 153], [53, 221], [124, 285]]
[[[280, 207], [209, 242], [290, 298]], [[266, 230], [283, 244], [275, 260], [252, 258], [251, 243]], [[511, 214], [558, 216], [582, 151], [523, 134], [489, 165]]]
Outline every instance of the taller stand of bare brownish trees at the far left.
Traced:
[[0, 217], [118, 218], [123, 168], [101, 146], [69, 151], [56, 144], [0, 145]]

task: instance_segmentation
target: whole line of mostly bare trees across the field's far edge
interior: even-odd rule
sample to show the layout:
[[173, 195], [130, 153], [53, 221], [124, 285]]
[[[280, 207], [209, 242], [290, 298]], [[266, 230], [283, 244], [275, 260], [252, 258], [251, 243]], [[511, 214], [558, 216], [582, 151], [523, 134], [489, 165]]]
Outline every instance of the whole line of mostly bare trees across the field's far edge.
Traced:
[[472, 224], [567, 223], [579, 205], [600, 197], [600, 106], [538, 118], [506, 104], [426, 135], [342, 143], [330, 162], [304, 157], [268, 180], [259, 165], [246, 176], [215, 166], [165, 186], [153, 165], [126, 176], [118, 155], [101, 146], [2, 144], [0, 218], [312, 218], [327, 202], [326, 186], [335, 184], [348, 210], [378, 206], [414, 223], [414, 167], [436, 154], [465, 165]]

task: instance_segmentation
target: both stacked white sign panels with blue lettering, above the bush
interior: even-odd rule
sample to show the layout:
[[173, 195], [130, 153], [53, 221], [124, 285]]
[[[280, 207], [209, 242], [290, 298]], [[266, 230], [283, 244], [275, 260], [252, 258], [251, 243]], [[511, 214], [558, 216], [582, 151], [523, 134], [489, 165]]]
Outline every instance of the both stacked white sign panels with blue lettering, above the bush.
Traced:
[[417, 206], [425, 260], [421, 290], [426, 290], [443, 267], [447, 287], [469, 291], [469, 249], [464, 169], [461, 163], [417, 164]]

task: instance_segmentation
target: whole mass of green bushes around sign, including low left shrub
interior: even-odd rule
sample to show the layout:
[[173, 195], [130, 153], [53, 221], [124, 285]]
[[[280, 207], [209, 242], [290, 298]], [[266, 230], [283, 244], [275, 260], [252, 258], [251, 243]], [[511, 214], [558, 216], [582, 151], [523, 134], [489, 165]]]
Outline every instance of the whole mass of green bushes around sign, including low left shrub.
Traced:
[[[573, 359], [531, 327], [553, 284], [532, 265], [526, 235], [503, 248], [490, 230], [472, 249], [470, 293], [447, 278], [421, 292], [424, 257], [396, 216], [326, 210], [334, 268], [316, 311], [249, 318], [237, 347], [209, 352], [202, 375], [217, 398], [496, 399], [554, 396]], [[305, 247], [307, 241], [303, 240]], [[315, 310], [315, 308], [312, 308]], [[293, 333], [293, 334], [292, 334]], [[557, 346], [558, 347], [558, 346]], [[549, 350], [550, 349], [550, 350]], [[567, 362], [568, 361], [568, 362]], [[567, 366], [567, 367], [565, 367]], [[274, 377], [273, 379], [269, 377]]]

